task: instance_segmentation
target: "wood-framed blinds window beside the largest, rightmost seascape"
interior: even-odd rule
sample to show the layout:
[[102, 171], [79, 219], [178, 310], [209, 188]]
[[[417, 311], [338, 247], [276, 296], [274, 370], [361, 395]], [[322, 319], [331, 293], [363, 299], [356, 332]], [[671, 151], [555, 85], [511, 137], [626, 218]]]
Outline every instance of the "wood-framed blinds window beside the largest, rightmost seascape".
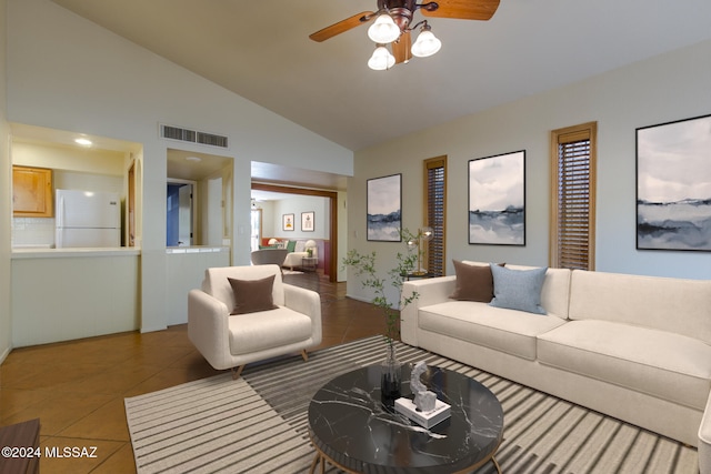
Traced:
[[597, 122], [554, 130], [550, 265], [594, 270]]

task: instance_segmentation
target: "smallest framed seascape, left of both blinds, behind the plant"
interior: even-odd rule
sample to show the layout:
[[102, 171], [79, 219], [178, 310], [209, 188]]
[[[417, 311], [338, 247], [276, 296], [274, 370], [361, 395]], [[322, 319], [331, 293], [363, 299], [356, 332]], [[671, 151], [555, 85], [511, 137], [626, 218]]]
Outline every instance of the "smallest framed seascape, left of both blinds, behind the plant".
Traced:
[[368, 240], [400, 242], [402, 230], [402, 174], [368, 180]]

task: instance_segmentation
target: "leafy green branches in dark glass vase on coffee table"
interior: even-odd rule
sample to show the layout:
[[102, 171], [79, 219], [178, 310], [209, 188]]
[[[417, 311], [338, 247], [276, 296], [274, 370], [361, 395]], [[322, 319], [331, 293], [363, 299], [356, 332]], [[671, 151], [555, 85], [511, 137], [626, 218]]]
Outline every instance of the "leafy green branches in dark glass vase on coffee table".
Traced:
[[[407, 229], [400, 232], [402, 241], [408, 243], [417, 240], [418, 236], [412, 234]], [[417, 249], [417, 252], [414, 251]], [[398, 252], [395, 255], [397, 264], [393, 269], [387, 272], [387, 276], [378, 274], [375, 269], [377, 253], [360, 253], [354, 249], [351, 249], [346, 259], [343, 259], [343, 265], [354, 270], [356, 276], [361, 279], [363, 288], [371, 289], [373, 291], [372, 303], [383, 311], [385, 316], [385, 347], [387, 356], [382, 363], [382, 377], [381, 377], [381, 394], [385, 403], [393, 403], [400, 397], [400, 383], [401, 383], [401, 366], [395, 354], [394, 341], [400, 335], [400, 311], [402, 311], [408, 304], [418, 299], [418, 293], [413, 292], [407, 297], [400, 297], [400, 307], [393, 309], [388, 301], [385, 289], [393, 286], [398, 290], [398, 294], [402, 294], [402, 284], [407, 280], [407, 276], [412, 274], [413, 270], [418, 265], [418, 259], [420, 254], [420, 248], [411, 244], [407, 245], [404, 253]]]

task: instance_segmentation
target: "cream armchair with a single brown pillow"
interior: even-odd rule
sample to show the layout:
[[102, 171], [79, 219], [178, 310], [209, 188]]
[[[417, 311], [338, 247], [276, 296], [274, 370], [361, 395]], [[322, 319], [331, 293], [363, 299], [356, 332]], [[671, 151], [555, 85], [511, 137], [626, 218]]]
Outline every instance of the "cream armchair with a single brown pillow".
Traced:
[[[274, 275], [274, 309], [230, 314], [236, 306], [229, 279], [256, 281]], [[206, 270], [201, 290], [188, 294], [188, 336], [217, 370], [239, 377], [244, 365], [301, 352], [321, 343], [321, 299], [318, 293], [286, 284], [278, 265], [227, 266]]]

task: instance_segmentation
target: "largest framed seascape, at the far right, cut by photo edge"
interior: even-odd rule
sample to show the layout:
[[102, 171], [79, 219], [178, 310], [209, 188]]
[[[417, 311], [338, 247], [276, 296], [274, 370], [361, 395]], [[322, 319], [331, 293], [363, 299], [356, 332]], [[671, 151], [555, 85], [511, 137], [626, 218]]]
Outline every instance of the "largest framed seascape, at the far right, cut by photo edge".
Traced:
[[637, 129], [637, 249], [711, 251], [711, 115]]

